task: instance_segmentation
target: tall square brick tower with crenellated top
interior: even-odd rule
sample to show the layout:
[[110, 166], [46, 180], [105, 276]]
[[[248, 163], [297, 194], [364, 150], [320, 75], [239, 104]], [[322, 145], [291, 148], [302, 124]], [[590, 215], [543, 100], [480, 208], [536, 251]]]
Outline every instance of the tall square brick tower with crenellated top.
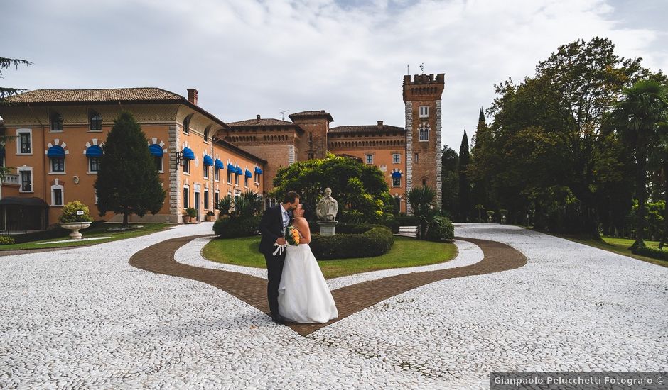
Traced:
[[[414, 186], [436, 190], [441, 206], [441, 95], [445, 74], [404, 76], [406, 193]], [[409, 211], [410, 212], [410, 211]]]

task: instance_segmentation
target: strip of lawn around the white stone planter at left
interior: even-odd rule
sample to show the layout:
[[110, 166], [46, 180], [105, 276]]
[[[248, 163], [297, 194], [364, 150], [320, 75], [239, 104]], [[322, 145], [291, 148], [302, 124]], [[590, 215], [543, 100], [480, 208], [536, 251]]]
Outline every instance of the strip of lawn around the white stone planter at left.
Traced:
[[161, 230], [166, 230], [168, 227], [173, 226], [170, 223], [131, 223], [130, 225], [141, 225], [141, 228], [134, 228], [131, 230], [119, 230], [119, 231], [109, 231], [110, 228], [119, 228], [121, 223], [101, 223], [99, 225], [92, 225], [90, 228], [80, 230], [83, 238], [92, 238], [92, 237], [109, 237], [102, 238], [100, 240], [85, 240], [85, 241], [72, 241], [69, 243], [49, 243], [51, 241], [65, 241], [70, 240], [68, 235], [70, 232], [63, 233], [63, 237], [58, 238], [49, 238], [47, 240], [38, 240], [30, 241], [28, 243], [20, 244], [11, 244], [11, 245], [1, 245], [1, 250], [26, 250], [26, 249], [45, 249], [53, 247], [78, 247], [83, 245], [95, 245], [101, 243], [109, 243], [109, 241], [124, 240], [125, 238], [139, 237], [141, 235], [147, 235], [151, 233], [156, 233]]

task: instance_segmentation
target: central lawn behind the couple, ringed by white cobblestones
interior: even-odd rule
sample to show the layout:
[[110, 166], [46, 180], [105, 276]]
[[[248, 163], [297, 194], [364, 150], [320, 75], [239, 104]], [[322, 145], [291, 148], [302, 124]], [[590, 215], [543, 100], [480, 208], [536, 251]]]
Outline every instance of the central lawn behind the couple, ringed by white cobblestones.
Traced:
[[[216, 238], [205, 245], [202, 255], [207, 260], [246, 267], [266, 268], [264, 256], [258, 252], [259, 236], [235, 239]], [[378, 257], [318, 261], [325, 279], [359, 274], [378, 269], [417, 267], [447, 262], [457, 256], [452, 243], [432, 243], [414, 238], [394, 237], [394, 246]]]

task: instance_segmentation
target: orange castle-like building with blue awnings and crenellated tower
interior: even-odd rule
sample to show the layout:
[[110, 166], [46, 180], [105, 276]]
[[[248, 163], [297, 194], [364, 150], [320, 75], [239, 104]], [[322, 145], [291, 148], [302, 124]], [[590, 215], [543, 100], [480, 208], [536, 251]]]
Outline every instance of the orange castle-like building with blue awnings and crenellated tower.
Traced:
[[[42, 230], [58, 222], [61, 208], [80, 200], [96, 216], [95, 178], [104, 140], [121, 111], [131, 112], [146, 134], [146, 147], [166, 189], [165, 204], [131, 222], [183, 222], [185, 208], [198, 221], [217, 200], [252, 190], [270, 199], [280, 167], [323, 158], [331, 152], [375, 165], [397, 209], [410, 213], [405, 194], [428, 185], [441, 199], [441, 94], [444, 76], [405, 76], [406, 125], [331, 127], [324, 111], [302, 111], [291, 121], [256, 118], [225, 123], [188, 97], [158, 88], [38, 89], [12, 96], [0, 106], [0, 131], [14, 136], [0, 149], [0, 164], [11, 173], [0, 182], [0, 230]], [[334, 194], [335, 196], [335, 194]], [[105, 221], [122, 216], [107, 213]]]

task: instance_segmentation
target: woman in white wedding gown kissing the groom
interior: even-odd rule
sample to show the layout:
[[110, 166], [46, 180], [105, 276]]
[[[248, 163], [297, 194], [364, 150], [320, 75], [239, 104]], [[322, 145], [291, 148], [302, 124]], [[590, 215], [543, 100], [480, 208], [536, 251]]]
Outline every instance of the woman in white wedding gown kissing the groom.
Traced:
[[302, 205], [293, 211], [293, 225], [299, 232], [299, 245], [288, 245], [281, 284], [279, 313], [296, 323], [326, 323], [338, 317], [329, 287], [308, 243], [311, 231]]

